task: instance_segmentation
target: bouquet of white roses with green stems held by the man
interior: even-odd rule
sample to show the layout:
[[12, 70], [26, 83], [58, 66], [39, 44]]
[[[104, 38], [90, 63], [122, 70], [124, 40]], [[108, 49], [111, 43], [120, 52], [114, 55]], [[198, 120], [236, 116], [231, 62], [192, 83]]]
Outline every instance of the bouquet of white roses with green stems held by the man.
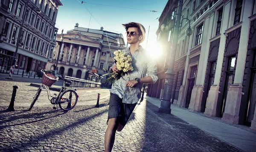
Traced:
[[104, 69], [107, 74], [111, 75], [108, 77], [108, 79], [105, 80], [105, 82], [113, 83], [115, 80], [118, 80], [121, 78], [121, 76], [125, 75], [129, 70], [133, 70], [133, 67], [131, 65], [131, 56], [126, 54], [125, 52], [118, 50], [114, 52], [115, 56], [113, 57], [114, 62], [116, 63], [116, 68], [119, 70], [118, 73], [115, 73], [113, 71], [108, 72], [108, 70]]

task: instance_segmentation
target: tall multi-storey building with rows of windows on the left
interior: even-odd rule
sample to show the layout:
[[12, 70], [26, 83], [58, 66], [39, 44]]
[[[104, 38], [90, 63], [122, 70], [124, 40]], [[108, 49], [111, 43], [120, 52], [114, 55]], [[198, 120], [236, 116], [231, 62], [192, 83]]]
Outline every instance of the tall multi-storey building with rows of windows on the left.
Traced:
[[[26, 7], [27, 4], [27, 7]], [[0, 70], [7, 73], [14, 64], [19, 31], [18, 65], [15, 70], [37, 71], [52, 60], [58, 28], [55, 21], [60, 0], [1, 0]], [[20, 29], [25, 15], [23, 28]]]

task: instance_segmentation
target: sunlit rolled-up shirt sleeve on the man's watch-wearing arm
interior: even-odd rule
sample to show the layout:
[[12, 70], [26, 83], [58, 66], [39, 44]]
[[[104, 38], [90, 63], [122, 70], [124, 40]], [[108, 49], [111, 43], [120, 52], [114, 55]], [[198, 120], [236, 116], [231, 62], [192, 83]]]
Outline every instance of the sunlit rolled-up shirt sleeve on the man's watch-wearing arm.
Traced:
[[147, 61], [147, 76], [153, 79], [153, 83], [157, 82], [157, 62], [155, 59], [148, 58]]

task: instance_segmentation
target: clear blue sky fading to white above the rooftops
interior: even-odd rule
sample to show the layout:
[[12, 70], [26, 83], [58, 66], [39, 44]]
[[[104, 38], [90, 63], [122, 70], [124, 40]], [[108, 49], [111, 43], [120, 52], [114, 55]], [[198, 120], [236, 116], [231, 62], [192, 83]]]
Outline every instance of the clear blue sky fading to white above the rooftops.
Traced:
[[[81, 1], [83, 1], [83, 4], [81, 4]], [[79, 27], [83, 28], [100, 29], [100, 27], [103, 27], [103, 30], [110, 30], [111, 32], [117, 31], [116, 33], [123, 34], [125, 42], [127, 42], [125, 28], [122, 27], [122, 23], [137, 22], [141, 23], [146, 30], [145, 41], [141, 43], [141, 45], [144, 48], [152, 48], [155, 46], [154, 44], [157, 39], [155, 34], [159, 25], [157, 18], [160, 17], [167, 1], [168, 0], [61, 0], [63, 6], [59, 7], [55, 27], [59, 29], [58, 34], [61, 34], [62, 29], [64, 29], [64, 33], [74, 29], [76, 23], [79, 23]], [[89, 12], [92, 13], [92, 17]], [[150, 29], [148, 30], [149, 26]], [[147, 38], [148, 45], [146, 46]]]

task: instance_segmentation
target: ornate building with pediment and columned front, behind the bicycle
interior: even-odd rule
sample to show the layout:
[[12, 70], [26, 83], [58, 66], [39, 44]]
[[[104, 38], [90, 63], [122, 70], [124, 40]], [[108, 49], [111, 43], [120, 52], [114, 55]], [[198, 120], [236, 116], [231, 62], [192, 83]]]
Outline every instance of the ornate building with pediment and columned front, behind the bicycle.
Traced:
[[[105, 69], [114, 64], [113, 52], [126, 48], [122, 34], [111, 30], [81, 28], [78, 23], [67, 34], [57, 35], [57, 44], [52, 54], [53, 60], [47, 63], [47, 70], [56, 67], [58, 52], [58, 71], [62, 76], [71, 76], [79, 79], [90, 79], [93, 72], [102, 76]], [[61, 43], [62, 41], [62, 43]], [[112, 53], [112, 56], [111, 56]], [[104, 76], [105, 80], [106, 76]]]

